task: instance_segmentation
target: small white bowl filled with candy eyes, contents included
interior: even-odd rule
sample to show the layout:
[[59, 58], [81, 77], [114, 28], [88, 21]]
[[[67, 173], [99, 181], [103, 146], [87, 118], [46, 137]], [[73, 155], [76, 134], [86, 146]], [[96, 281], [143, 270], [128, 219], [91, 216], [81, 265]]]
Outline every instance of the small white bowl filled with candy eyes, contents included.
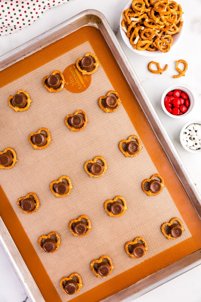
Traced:
[[192, 120], [180, 131], [179, 140], [182, 147], [192, 153], [201, 153], [201, 121]]

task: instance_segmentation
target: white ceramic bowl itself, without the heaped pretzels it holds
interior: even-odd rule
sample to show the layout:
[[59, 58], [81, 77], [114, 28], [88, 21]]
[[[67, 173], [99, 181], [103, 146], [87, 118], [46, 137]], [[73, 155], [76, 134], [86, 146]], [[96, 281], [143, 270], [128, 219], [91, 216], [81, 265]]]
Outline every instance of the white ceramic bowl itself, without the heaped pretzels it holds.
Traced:
[[[132, 0], [127, 3], [127, 5], [124, 7], [123, 11], [125, 11], [125, 9], [131, 8], [131, 3], [132, 3]], [[123, 18], [122, 18], [122, 14], [121, 14], [121, 18], [120, 18], [120, 33], [121, 33], [121, 37], [124, 40], [124, 42], [126, 43], [126, 45], [131, 50], [133, 50], [135, 53], [138, 53], [141, 56], [149, 56], [149, 57], [160, 56], [160, 55], [164, 55], [165, 54], [165, 53], [162, 53], [160, 50], [155, 50], [155, 51], [141, 50], [141, 51], [139, 51], [137, 49], [133, 49], [133, 46], [130, 44], [130, 41], [129, 41], [129, 39], [128, 39], [126, 33], [125, 33], [125, 31], [121, 27], [121, 21], [122, 20], [123, 20]], [[184, 21], [183, 16], [182, 16], [182, 20]], [[183, 23], [183, 26], [181, 27], [180, 32], [178, 34], [174, 34], [173, 35], [173, 43], [172, 43], [172, 46], [170, 48], [170, 51], [179, 43], [179, 41], [181, 40], [181, 37], [182, 37], [183, 33], [184, 33], [184, 23]]]

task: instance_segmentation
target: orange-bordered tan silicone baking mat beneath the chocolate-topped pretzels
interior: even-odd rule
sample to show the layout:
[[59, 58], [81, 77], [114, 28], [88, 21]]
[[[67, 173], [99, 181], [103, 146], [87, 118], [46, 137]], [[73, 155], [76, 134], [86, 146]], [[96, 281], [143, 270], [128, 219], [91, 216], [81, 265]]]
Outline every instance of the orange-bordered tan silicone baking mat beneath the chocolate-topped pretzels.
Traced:
[[[72, 64], [89, 51], [100, 66], [81, 79]], [[62, 91], [49, 93], [42, 78], [55, 69], [64, 72], [67, 83]], [[81, 28], [5, 69], [0, 79], [0, 147], [14, 148], [18, 159], [14, 168], [0, 171], [7, 196], [2, 191], [1, 216], [47, 302], [100, 301], [201, 247], [200, 220], [99, 30]], [[32, 103], [16, 113], [7, 100], [19, 89], [29, 93]], [[122, 104], [106, 114], [98, 99], [109, 90], [118, 92]], [[71, 132], [64, 119], [78, 109], [86, 112], [89, 123], [83, 131]], [[40, 127], [49, 129], [52, 142], [34, 150], [28, 135]], [[133, 134], [143, 149], [126, 158], [118, 143]], [[84, 163], [97, 155], [106, 159], [108, 170], [101, 178], [90, 178]], [[165, 188], [149, 197], [141, 183], [155, 173], [164, 178]], [[49, 185], [61, 175], [70, 177], [73, 189], [68, 197], [55, 198]], [[31, 191], [41, 207], [22, 214], [17, 199]], [[128, 210], [109, 217], [104, 202], [117, 195], [125, 198]], [[83, 214], [92, 230], [74, 237], [68, 223]], [[167, 240], [161, 225], [173, 217], [183, 221], [185, 231], [177, 240]], [[59, 233], [61, 247], [43, 253], [38, 238], [51, 231]], [[149, 250], [140, 259], [130, 259], [124, 245], [137, 236], [146, 239]], [[96, 278], [90, 270], [90, 262], [101, 255], [109, 255], [115, 268], [107, 278]], [[73, 272], [81, 275], [84, 286], [67, 296], [59, 281]]]

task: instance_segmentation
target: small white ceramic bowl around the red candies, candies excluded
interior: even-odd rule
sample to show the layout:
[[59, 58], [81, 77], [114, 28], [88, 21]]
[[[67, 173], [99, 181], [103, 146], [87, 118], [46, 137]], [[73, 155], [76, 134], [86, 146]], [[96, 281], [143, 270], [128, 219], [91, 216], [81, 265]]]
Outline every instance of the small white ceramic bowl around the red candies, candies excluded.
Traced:
[[[185, 92], [188, 95], [188, 99], [189, 99], [189, 102], [190, 102], [188, 110], [184, 114], [181, 114], [181, 115], [174, 115], [174, 114], [169, 113], [166, 110], [165, 104], [164, 104], [164, 98], [165, 98], [166, 94], [168, 92], [172, 91], [172, 90], [175, 90], [175, 89], [179, 89], [179, 90]], [[169, 87], [168, 89], [166, 89], [163, 92], [163, 95], [161, 97], [161, 106], [162, 106], [163, 111], [165, 112], [165, 114], [167, 114], [168, 116], [173, 117], [173, 118], [182, 118], [182, 117], [186, 116], [187, 114], [189, 114], [192, 111], [194, 105], [195, 105], [194, 94], [193, 94], [192, 90], [190, 90], [190, 88], [188, 88], [187, 86], [184, 86], [184, 85], [174, 85], [174, 86]]]

